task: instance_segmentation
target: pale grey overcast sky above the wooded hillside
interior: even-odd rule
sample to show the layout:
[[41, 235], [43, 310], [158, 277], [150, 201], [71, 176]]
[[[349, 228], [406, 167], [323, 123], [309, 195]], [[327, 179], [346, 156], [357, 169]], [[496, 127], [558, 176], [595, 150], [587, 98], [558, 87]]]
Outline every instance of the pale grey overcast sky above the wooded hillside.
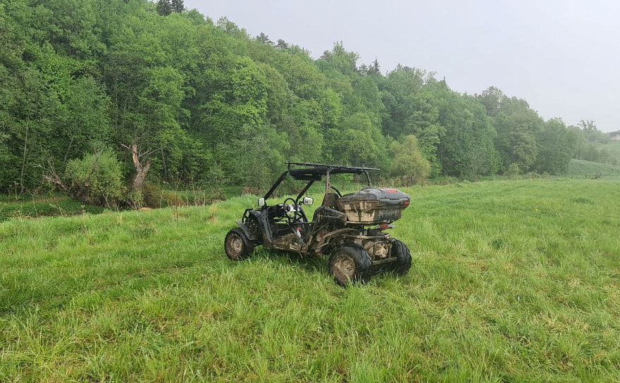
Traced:
[[255, 36], [309, 49], [333, 42], [375, 58], [433, 70], [457, 92], [495, 86], [543, 118], [620, 129], [620, 1], [185, 0]]

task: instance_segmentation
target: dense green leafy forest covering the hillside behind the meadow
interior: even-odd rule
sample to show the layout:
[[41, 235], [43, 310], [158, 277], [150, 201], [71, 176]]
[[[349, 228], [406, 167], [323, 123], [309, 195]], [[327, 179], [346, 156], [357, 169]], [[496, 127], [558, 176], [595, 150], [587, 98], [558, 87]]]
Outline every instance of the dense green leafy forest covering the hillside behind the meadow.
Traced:
[[263, 188], [286, 160], [372, 165], [407, 184], [558, 174], [571, 158], [611, 161], [605, 140], [495, 87], [382, 73], [342, 42], [314, 59], [180, 0], [0, 0], [4, 193], [140, 204], [149, 183]]

